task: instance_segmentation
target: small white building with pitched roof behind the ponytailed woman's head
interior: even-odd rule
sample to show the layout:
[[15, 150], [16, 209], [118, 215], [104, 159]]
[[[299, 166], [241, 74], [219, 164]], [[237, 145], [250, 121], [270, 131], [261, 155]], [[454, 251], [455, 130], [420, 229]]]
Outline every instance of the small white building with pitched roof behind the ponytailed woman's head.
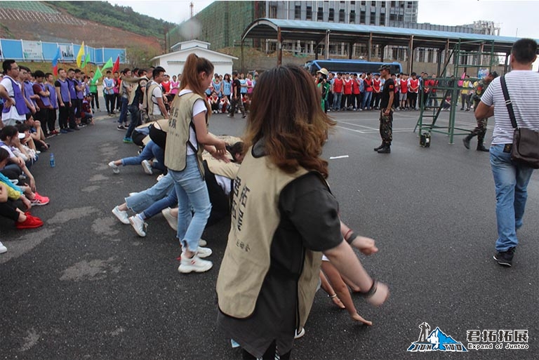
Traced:
[[199, 40], [182, 41], [171, 46], [173, 53], [168, 53], [152, 58], [152, 65], [164, 67], [166, 73], [171, 77], [183, 72], [183, 65], [187, 56], [191, 53], [196, 54], [201, 58], [206, 58], [213, 63], [215, 74], [232, 74], [232, 62], [237, 60], [234, 56], [230, 56], [209, 49], [210, 43]]

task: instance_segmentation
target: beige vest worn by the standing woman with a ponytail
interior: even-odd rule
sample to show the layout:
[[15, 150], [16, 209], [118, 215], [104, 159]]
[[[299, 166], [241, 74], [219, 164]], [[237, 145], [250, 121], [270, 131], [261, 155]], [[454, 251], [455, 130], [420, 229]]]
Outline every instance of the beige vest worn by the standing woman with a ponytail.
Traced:
[[[168, 119], [168, 132], [166, 134], [165, 166], [173, 171], [183, 171], [187, 165], [187, 147], [189, 142], [189, 126], [193, 119], [194, 102], [202, 99], [195, 93], [176, 95], [171, 107], [171, 116]], [[204, 99], [203, 99], [204, 100]], [[206, 113], [206, 125], [208, 116]], [[204, 178], [204, 166], [202, 165], [202, 152], [204, 147], [198, 142], [192, 144], [198, 147], [197, 161], [202, 177]]]

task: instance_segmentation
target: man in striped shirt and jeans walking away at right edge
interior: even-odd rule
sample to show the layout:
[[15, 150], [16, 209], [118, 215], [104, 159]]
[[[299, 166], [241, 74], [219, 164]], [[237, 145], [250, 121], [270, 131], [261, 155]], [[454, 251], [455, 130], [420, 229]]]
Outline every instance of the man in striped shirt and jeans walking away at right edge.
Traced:
[[[536, 54], [535, 40], [520, 39], [515, 42], [511, 50], [512, 71], [505, 75], [517, 126], [533, 131], [539, 131], [539, 74], [531, 69], [537, 58]], [[528, 86], [523, 87], [522, 84]], [[498, 222], [494, 260], [500, 265], [510, 267], [519, 244], [517, 229], [523, 225], [524, 208], [528, 198], [526, 189], [533, 168], [511, 160], [514, 128], [507, 112], [499, 77], [493, 79], [475, 109], [477, 119], [493, 115], [495, 124], [490, 155]]]

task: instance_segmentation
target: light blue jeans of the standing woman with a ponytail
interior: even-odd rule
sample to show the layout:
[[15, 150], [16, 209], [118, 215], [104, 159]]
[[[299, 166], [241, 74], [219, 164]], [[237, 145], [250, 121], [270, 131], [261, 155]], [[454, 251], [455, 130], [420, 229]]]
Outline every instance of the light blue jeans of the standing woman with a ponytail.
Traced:
[[174, 180], [178, 196], [178, 239], [182, 248], [197, 252], [199, 239], [211, 213], [208, 187], [200, 173], [197, 156], [187, 155], [187, 166], [183, 171], [168, 169], [168, 173]]

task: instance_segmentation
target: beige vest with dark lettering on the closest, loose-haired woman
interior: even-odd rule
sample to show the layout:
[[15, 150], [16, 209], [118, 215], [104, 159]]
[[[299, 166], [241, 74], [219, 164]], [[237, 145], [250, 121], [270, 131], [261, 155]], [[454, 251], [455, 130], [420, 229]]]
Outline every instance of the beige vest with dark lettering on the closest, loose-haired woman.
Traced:
[[[267, 156], [254, 158], [251, 149], [234, 180], [232, 225], [217, 279], [220, 310], [239, 319], [253, 314], [262, 283], [270, 269], [270, 249], [280, 222], [279, 194], [292, 180], [307, 173], [287, 174]], [[300, 326], [305, 325], [317, 291], [321, 253], [305, 251], [298, 281]]]

